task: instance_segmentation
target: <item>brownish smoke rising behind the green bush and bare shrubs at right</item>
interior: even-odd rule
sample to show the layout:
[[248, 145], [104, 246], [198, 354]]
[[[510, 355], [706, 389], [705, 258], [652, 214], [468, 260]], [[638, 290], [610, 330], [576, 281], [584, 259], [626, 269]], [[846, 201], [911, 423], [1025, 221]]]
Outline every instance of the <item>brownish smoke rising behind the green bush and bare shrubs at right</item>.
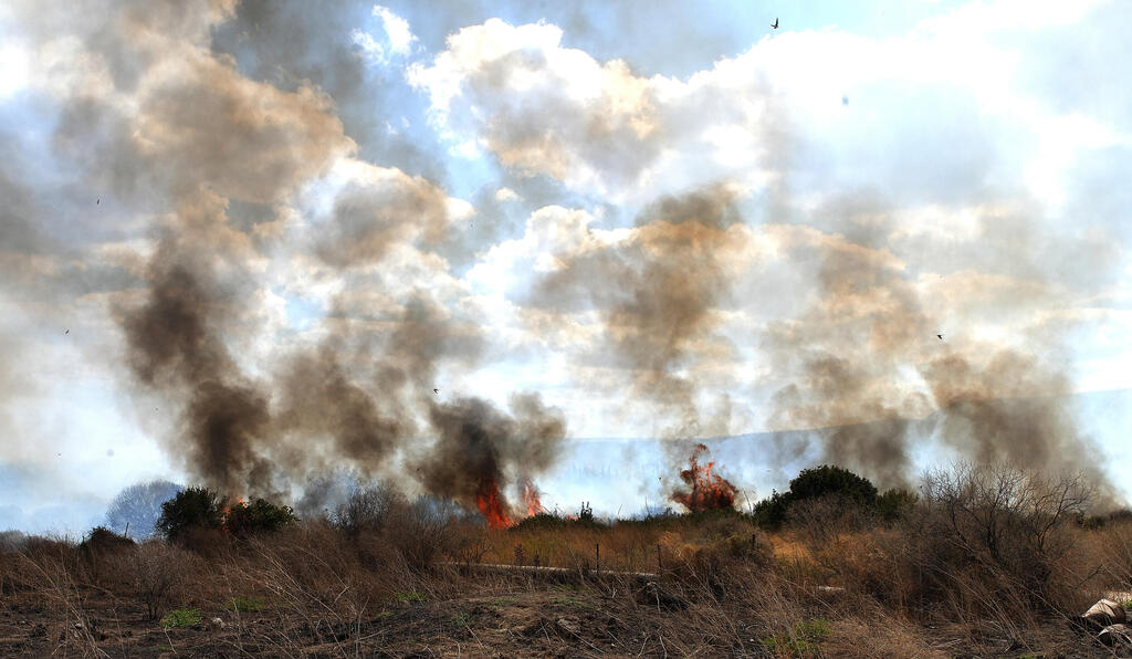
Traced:
[[[906, 263], [880, 246], [891, 226], [857, 220], [834, 216], [831, 229], [844, 233], [798, 248], [808, 258], [816, 253], [817, 296], [799, 316], [772, 323], [764, 336], [773, 370], [790, 377], [772, 397], [771, 426], [813, 429], [808, 436], [821, 461], [884, 486], [907, 487], [915, 478], [914, 450], [934, 436], [984, 464], [1081, 472], [1101, 498], [1113, 500], [1095, 462], [1100, 453], [1070, 410], [1066, 336], [1023, 327], [1009, 344], [989, 341], [974, 327], [954, 325], [958, 318], [979, 326], [976, 314], [933, 315], [927, 296], [970, 299], [972, 310], [998, 316], [1021, 316], [1036, 300], [996, 297], [993, 307], [981, 308], [974, 300], [986, 294], [978, 290], [986, 282], [912, 279]], [[981, 249], [1012, 268], [1039, 269], [1031, 262], [1040, 255], [1024, 241], [988, 239]], [[1030, 293], [1047, 297], [1049, 286], [1031, 286]], [[944, 327], [947, 320], [953, 325]]]

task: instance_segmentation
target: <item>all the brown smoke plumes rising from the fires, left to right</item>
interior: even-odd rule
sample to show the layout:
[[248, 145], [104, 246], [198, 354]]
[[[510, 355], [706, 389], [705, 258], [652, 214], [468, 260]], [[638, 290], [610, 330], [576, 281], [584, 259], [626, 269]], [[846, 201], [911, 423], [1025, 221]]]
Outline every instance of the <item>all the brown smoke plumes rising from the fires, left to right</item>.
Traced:
[[[69, 80], [80, 93], [60, 112], [53, 148], [85, 171], [87, 182], [144, 208], [153, 223], [138, 268], [144, 291], [113, 302], [126, 369], [177, 410], [168, 448], [209, 486], [288, 496], [311, 474], [348, 463], [360, 477], [392, 477], [474, 504], [504, 525], [514, 514], [508, 487], [554, 465], [566, 419], [532, 394], [517, 393], [500, 410], [464, 392], [434, 392], [446, 368], [471, 368], [487, 354], [475, 310], [453, 311], [423, 281], [451, 276], [449, 263], [474, 260], [474, 249], [455, 225], [461, 211], [429, 182], [441, 180], [444, 168], [372, 120], [370, 101], [380, 85], [366, 77], [357, 53], [336, 42], [333, 57], [314, 54], [312, 44], [341, 36], [354, 22], [344, 14], [310, 22], [309, 11], [263, 2], [127, 3], [84, 12], [89, 25], [84, 18], [70, 26], [104, 70]], [[24, 14], [29, 32], [50, 32], [34, 11]], [[235, 65], [241, 44], [256, 54], [250, 67]], [[632, 77], [627, 69], [615, 72]], [[494, 126], [516, 134], [513, 164], [520, 166], [544, 164], [548, 114], [532, 108], [521, 109], [522, 121]], [[649, 142], [642, 155], [632, 148], [637, 142], [625, 147], [615, 139], [621, 147], [609, 155], [607, 138], [624, 137], [625, 127], [582, 128], [580, 136], [595, 130], [600, 139], [581, 160], [616, 156], [627, 179], [648, 169], [634, 159], [662, 151]], [[660, 140], [661, 128], [650, 123], [649, 139]], [[790, 155], [783, 130], [770, 132], [769, 163]], [[345, 176], [350, 182], [333, 192], [325, 216], [309, 213], [320, 223], [297, 219], [303, 186], [355, 155], [380, 155], [429, 179], [358, 165], [362, 173]], [[25, 215], [38, 202], [14, 189], [20, 188], [16, 179], [0, 170], [0, 190], [10, 199], [0, 238], [34, 251], [44, 239]], [[623, 395], [650, 406], [657, 434], [726, 434], [735, 394], [707, 391], [703, 356], [739, 363], [719, 332], [722, 311], [766, 302], [736, 299], [736, 280], [751, 266], [747, 248], [760, 231], [794, 229], [779, 256], [804, 284], [774, 294], [797, 298], [803, 310], [752, 330], [769, 371], [789, 382], [771, 399], [771, 426], [816, 428], [822, 460], [878, 483], [904, 485], [914, 476], [912, 448], [927, 438], [909, 420], [931, 418], [936, 435], [962, 455], [1077, 469], [1110, 491], [1089, 457], [1095, 447], [1058, 397], [1071, 375], [1065, 335], [1022, 335], [1004, 348], [975, 331], [941, 328], [921, 273], [889, 251], [893, 226], [863, 231], [852, 217], [831, 214], [812, 222], [823, 231], [791, 228], [786, 197], [800, 186], [789, 182], [782, 177], [771, 185], [774, 226], [749, 225], [738, 185], [646, 205], [620, 238], [556, 255], [556, 267], [540, 275], [525, 303], [597, 310], [602, 337], [594, 361], [623, 374]], [[269, 221], [247, 222], [240, 215], [254, 214], [248, 208]], [[992, 260], [1040, 271], [1032, 246], [989, 225], [983, 230], [997, 240]], [[404, 271], [385, 272], [400, 267], [406, 253], [426, 263], [412, 272], [419, 285], [400, 282]], [[359, 319], [357, 300], [337, 293], [315, 332], [265, 354], [254, 346], [271, 331], [261, 296], [278, 283], [269, 274], [278, 259], [366, 282], [381, 309]], [[936, 337], [941, 330], [946, 341]], [[271, 366], [249, 366], [252, 357]], [[404, 472], [394, 467], [398, 461], [409, 465]], [[681, 500], [689, 507], [701, 505], [696, 482]]]

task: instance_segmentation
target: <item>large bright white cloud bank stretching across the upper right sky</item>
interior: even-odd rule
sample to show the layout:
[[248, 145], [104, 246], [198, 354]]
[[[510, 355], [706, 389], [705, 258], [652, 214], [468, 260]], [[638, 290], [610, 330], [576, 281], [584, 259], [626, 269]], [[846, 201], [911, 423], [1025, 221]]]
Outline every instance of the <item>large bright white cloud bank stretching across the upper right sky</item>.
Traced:
[[1004, 17], [1034, 29], [1090, 19], [1063, 9], [975, 3], [885, 40], [786, 33], [686, 79], [565, 48], [554, 25], [490, 19], [406, 76], [429, 94], [443, 138], [614, 202], [721, 179], [765, 190], [782, 177], [807, 194], [880, 185], [934, 203], [989, 183], [1056, 202], [1062, 170], [1127, 140], [1072, 100], [1056, 108], [1028, 87], [1041, 75], [1031, 55], [1048, 44]]

